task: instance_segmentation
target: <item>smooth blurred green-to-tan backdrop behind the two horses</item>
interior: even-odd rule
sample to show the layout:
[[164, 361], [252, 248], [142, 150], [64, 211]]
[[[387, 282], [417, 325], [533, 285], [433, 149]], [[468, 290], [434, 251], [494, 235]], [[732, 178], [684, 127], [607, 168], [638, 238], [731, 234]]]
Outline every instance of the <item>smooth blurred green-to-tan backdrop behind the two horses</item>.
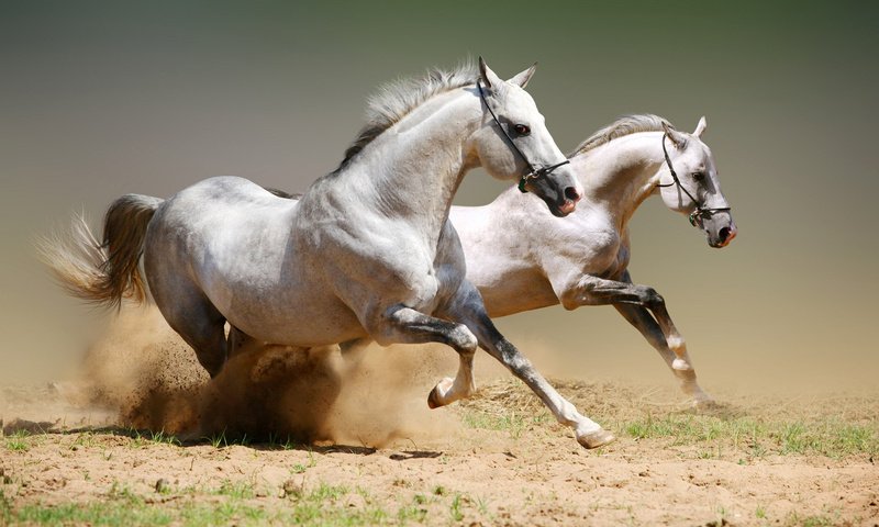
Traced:
[[[0, 2], [0, 382], [55, 379], [98, 312], [33, 237], [126, 192], [238, 175], [302, 191], [335, 168], [382, 82], [482, 55], [532, 63], [568, 152], [626, 113], [703, 136], [739, 227], [708, 247], [649, 200], [633, 278], [666, 298], [706, 389], [875, 386], [877, 2]], [[456, 202], [503, 189], [470, 173]], [[671, 382], [611, 307], [499, 321], [568, 377]]]

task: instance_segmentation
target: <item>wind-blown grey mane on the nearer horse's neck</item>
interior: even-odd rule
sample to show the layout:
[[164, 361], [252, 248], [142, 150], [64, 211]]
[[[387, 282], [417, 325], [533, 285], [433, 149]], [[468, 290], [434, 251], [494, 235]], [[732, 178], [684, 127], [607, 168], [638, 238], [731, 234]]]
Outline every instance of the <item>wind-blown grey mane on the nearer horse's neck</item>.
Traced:
[[399, 79], [380, 87], [367, 100], [366, 124], [360, 128], [354, 143], [345, 150], [344, 159], [333, 173], [347, 167], [366, 145], [400, 122], [427, 99], [476, 83], [478, 71], [474, 61], [468, 59], [453, 70], [430, 68], [421, 77]]

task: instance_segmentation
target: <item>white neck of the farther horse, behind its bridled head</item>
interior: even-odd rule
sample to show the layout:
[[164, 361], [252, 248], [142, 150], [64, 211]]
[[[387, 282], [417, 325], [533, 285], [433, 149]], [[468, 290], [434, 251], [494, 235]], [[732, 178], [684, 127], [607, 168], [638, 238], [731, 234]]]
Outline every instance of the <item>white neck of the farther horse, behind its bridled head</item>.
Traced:
[[604, 209], [624, 228], [656, 190], [664, 162], [661, 137], [661, 132], [638, 132], [574, 156], [571, 164], [583, 186], [583, 201]]

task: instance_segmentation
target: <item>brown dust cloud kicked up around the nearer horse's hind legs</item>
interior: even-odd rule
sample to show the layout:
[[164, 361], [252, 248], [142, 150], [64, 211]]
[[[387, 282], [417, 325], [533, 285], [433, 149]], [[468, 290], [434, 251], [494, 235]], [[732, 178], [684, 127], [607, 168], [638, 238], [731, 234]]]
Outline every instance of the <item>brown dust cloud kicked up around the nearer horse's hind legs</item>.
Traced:
[[337, 348], [251, 346], [210, 379], [155, 307], [133, 309], [91, 347], [76, 392], [80, 404], [115, 411], [121, 426], [192, 440], [381, 447], [430, 442], [458, 426], [426, 404], [457, 366], [448, 348], [370, 346], [349, 362]]

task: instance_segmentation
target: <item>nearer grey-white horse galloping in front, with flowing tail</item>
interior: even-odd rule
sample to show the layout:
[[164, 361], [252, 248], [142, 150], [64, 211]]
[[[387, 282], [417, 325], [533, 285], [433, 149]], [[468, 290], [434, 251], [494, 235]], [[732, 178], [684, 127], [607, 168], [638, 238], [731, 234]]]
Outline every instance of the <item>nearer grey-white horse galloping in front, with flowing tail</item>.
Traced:
[[[80, 222], [74, 243], [44, 248], [46, 259], [74, 294], [118, 304], [144, 299], [143, 254], [159, 311], [211, 375], [245, 335], [297, 347], [439, 341], [458, 352], [459, 369], [429, 395], [435, 407], [474, 392], [480, 346], [581, 445], [604, 445], [613, 436], [491, 323], [447, 222], [461, 178], [478, 166], [520, 180], [553, 215], [574, 211], [580, 184], [522, 89], [533, 72], [503, 81], [480, 58], [478, 76], [472, 67], [435, 70], [391, 86], [371, 101], [342, 165], [299, 201], [233, 177], [165, 201], [129, 194], [108, 210], [103, 244]], [[237, 328], [229, 339], [226, 322]]]

